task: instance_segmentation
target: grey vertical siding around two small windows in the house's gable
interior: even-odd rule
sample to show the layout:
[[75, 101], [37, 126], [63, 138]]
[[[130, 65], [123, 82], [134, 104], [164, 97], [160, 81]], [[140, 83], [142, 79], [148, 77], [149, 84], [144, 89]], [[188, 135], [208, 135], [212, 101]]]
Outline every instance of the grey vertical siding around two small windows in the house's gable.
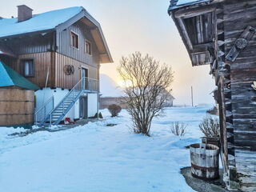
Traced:
[[[76, 49], [70, 46], [70, 31], [79, 35], [79, 48]], [[92, 55], [86, 54], [85, 41], [88, 40], [92, 44]], [[79, 62], [84, 62], [90, 66], [99, 65], [98, 48], [94, 42], [94, 38], [90, 33], [88, 26], [85, 23], [78, 21], [67, 29], [62, 30], [56, 34], [57, 52], [66, 55], [67, 57], [74, 58]]]

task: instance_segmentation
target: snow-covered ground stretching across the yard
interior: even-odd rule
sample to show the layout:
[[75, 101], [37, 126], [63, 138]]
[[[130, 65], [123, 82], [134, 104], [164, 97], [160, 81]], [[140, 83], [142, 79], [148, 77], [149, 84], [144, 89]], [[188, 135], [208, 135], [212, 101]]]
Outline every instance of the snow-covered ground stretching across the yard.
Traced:
[[[126, 110], [118, 118], [102, 110], [106, 121], [26, 137], [0, 127], [0, 192], [193, 191], [179, 172], [190, 166], [185, 146], [199, 142], [206, 108], [165, 111], [154, 119], [152, 137], [132, 133]], [[174, 121], [188, 124], [182, 140], [170, 133]]]

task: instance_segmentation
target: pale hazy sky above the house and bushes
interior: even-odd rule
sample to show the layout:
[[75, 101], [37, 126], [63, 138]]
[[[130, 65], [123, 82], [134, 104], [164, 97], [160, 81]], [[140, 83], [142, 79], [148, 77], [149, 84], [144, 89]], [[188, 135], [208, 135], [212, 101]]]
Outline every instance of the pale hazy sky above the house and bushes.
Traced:
[[[116, 67], [122, 55], [134, 51], [150, 54], [175, 72], [174, 104], [214, 103], [210, 66], [192, 67], [174, 22], [167, 14], [170, 0], [0, 0], [0, 17], [17, 17], [17, 6], [26, 4], [33, 14], [70, 6], [83, 6], [102, 26], [114, 63], [102, 64], [100, 73], [120, 82]], [[1, 30], [1, 29], [0, 29]]]

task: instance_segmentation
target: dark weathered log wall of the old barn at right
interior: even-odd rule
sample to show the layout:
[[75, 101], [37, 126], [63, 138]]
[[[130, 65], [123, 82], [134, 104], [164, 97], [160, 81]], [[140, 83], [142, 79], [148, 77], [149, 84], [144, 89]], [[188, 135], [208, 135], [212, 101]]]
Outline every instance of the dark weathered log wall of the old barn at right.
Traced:
[[[247, 26], [256, 27], [256, 1], [226, 1], [224, 9], [225, 54]], [[256, 188], [256, 91], [251, 88], [256, 81], [256, 35], [245, 50], [230, 65], [230, 89], [234, 137], [234, 166], [242, 190]], [[250, 176], [250, 177], [249, 177]]]

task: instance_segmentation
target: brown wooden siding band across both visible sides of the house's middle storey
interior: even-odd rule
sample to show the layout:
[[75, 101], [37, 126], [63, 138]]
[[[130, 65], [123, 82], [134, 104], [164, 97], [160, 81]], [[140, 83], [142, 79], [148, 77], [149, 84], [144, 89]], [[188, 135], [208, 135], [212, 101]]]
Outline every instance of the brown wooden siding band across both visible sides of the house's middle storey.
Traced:
[[[98, 79], [99, 70], [98, 66], [90, 66], [84, 62], [79, 62], [74, 58], [66, 57], [65, 55], [56, 52], [44, 52], [38, 54], [21, 54], [18, 59], [10, 57], [1, 57], [12, 69], [16, 70], [19, 74], [20, 61], [24, 58], [34, 59], [34, 77], [27, 78], [40, 88], [46, 86], [47, 70], [49, 68], [49, 78], [47, 87], [59, 87], [63, 89], [72, 89], [73, 86], [81, 79], [81, 67], [88, 70], [88, 77]], [[65, 66], [74, 66], [74, 74], [67, 75], [65, 73]]]

